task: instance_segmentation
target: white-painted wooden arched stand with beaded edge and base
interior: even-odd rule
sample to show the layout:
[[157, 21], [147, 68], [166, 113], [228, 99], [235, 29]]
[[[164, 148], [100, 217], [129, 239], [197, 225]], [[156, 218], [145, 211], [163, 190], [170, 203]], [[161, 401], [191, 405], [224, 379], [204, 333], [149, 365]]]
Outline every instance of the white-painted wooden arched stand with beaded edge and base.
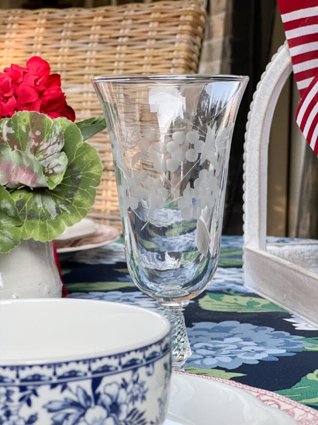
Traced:
[[244, 145], [244, 284], [318, 326], [318, 244], [266, 244], [269, 135], [276, 102], [291, 72], [285, 42], [250, 105]]

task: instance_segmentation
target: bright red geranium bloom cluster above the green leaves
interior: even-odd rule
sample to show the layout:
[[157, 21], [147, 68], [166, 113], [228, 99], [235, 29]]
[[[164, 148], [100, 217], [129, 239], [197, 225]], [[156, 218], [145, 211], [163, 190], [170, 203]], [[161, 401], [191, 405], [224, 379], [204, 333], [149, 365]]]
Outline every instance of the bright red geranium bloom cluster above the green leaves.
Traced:
[[26, 110], [75, 121], [75, 112], [61, 89], [60, 75], [50, 72], [49, 64], [39, 56], [31, 57], [25, 67], [12, 64], [5, 68], [0, 73], [0, 118]]

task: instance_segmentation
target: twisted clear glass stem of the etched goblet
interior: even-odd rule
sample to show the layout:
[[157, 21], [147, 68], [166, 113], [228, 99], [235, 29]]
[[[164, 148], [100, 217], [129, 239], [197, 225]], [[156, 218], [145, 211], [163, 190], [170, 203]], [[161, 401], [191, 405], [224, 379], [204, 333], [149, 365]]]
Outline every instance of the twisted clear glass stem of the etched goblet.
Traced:
[[172, 370], [180, 371], [185, 361], [191, 356], [191, 349], [186, 332], [183, 307], [184, 303], [166, 303], [160, 301], [159, 305], [164, 308], [164, 317], [169, 321], [172, 328]]

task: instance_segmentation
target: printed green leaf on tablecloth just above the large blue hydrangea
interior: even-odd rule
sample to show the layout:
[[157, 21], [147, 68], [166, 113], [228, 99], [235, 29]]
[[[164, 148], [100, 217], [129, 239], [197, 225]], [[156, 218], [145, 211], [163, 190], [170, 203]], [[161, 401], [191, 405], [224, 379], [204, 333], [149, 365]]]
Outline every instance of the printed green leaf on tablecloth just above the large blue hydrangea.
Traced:
[[199, 304], [204, 310], [210, 311], [234, 311], [237, 313], [285, 312], [284, 309], [269, 300], [241, 295], [208, 293], [199, 300]]

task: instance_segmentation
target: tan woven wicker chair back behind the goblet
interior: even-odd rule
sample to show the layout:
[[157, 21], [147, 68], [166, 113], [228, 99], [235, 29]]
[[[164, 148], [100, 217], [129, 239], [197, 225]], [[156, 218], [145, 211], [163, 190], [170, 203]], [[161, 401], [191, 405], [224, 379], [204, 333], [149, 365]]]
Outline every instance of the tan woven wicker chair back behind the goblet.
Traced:
[[[201, 0], [122, 6], [0, 10], [0, 69], [33, 55], [61, 75], [76, 120], [101, 115], [91, 85], [98, 75], [195, 73], [205, 23]], [[103, 162], [91, 217], [121, 226], [107, 132], [91, 138]]]

